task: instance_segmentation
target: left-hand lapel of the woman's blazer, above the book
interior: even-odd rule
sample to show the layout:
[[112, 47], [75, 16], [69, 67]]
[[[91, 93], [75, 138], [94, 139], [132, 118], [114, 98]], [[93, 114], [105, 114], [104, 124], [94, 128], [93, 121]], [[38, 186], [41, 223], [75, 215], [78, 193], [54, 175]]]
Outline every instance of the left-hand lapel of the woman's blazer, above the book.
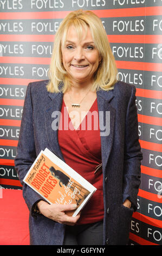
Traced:
[[61, 114], [62, 93], [49, 93], [49, 103], [44, 108], [44, 120], [51, 151], [64, 161], [58, 141], [58, 125]]

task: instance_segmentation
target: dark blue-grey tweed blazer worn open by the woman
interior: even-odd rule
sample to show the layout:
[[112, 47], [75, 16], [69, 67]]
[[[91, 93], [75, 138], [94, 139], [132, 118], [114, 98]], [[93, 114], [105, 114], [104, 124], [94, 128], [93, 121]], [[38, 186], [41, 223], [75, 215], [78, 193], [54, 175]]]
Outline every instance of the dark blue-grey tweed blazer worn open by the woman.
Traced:
[[[23, 197], [30, 211], [31, 245], [62, 245], [65, 229], [63, 224], [34, 212], [33, 207], [41, 196], [22, 181], [36, 156], [46, 147], [63, 160], [57, 130], [51, 127], [52, 113], [61, 111], [63, 94], [47, 92], [47, 83], [38, 81], [27, 87], [15, 159], [15, 168], [23, 184]], [[97, 101], [99, 112], [109, 113], [110, 124], [108, 135], [101, 136], [105, 208], [103, 244], [126, 245], [133, 210], [137, 209], [142, 160], [135, 87], [118, 81], [109, 92], [99, 90]], [[100, 119], [100, 123], [106, 120], [103, 115]], [[126, 198], [132, 202], [131, 209], [122, 205]]]

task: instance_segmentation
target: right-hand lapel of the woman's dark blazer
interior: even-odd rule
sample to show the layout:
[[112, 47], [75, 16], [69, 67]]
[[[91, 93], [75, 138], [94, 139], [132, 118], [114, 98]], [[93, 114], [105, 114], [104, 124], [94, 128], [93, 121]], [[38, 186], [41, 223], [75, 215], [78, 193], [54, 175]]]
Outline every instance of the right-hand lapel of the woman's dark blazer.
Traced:
[[[108, 92], [99, 90], [97, 92], [103, 172], [105, 171], [113, 143], [115, 109], [110, 104], [113, 97], [113, 90]], [[105, 132], [103, 127], [105, 127]]]

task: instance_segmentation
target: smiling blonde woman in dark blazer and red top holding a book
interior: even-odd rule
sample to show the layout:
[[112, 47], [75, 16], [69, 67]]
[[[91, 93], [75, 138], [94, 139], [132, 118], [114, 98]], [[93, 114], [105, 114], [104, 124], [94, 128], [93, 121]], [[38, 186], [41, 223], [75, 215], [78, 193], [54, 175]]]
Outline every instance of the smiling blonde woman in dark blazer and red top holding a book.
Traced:
[[[128, 242], [142, 154], [135, 87], [116, 81], [116, 74], [100, 19], [91, 11], [70, 13], [55, 36], [50, 80], [27, 88], [15, 168], [22, 182], [47, 147], [97, 190], [70, 217], [66, 211], [76, 205], [50, 205], [22, 182], [31, 245]], [[53, 125], [58, 111], [62, 118]]]

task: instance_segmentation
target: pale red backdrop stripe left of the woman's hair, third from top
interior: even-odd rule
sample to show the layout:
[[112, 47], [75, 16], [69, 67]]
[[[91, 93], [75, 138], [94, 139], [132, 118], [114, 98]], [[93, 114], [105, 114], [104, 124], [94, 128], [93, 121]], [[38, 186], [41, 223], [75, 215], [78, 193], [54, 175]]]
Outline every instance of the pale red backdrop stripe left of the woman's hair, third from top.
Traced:
[[0, 57], [0, 63], [20, 63], [20, 64], [50, 64], [50, 58], [35, 57]]

